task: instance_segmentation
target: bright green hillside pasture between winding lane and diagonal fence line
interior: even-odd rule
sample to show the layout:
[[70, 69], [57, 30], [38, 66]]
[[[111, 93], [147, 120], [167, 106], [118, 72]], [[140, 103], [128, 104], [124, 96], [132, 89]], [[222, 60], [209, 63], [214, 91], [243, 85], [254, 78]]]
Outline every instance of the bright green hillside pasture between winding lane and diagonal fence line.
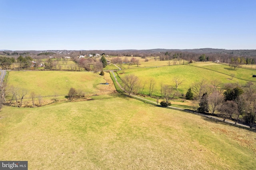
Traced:
[[233, 78], [222, 73], [218, 73], [216, 71], [193, 67], [190, 65], [170, 65], [165, 67], [152, 67], [152, 68], [138, 68], [138, 69], [126, 69], [124, 73], [118, 71], [118, 75], [120, 78], [134, 74], [138, 76], [139, 81], [142, 84], [147, 82], [144, 90], [144, 94], [148, 94], [149, 92], [149, 82], [150, 79], [154, 79], [155, 86], [152, 95], [160, 96], [160, 88], [161, 84], [167, 85], [175, 85], [174, 77], [178, 77], [181, 80], [184, 80], [181, 85], [179, 85], [178, 90], [180, 93], [186, 93], [186, 91], [191, 87], [192, 83], [196, 83], [202, 81], [202, 79], [206, 79], [208, 83], [212, 81], [220, 81], [222, 84], [224, 83], [246, 83], [244, 80]]

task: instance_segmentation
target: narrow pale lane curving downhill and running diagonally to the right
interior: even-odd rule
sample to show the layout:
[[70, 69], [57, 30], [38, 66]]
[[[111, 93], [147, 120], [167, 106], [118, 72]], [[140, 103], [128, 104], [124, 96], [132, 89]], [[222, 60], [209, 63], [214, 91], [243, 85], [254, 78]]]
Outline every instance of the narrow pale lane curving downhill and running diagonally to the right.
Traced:
[[[117, 79], [116, 79], [116, 75], [114, 74], [114, 72], [113, 72], [113, 71], [110, 71], [110, 72], [111, 72], [112, 75], [114, 76], [114, 79], [115, 79], [117, 85], [118, 85], [124, 92], [126, 92], [126, 91], [124, 90], [124, 88], [118, 83], [118, 81], [117, 81]], [[156, 104], [156, 105], [158, 104], [158, 103], [156, 103], [156, 102], [154, 102], [154, 101], [150, 101], [150, 100], [148, 100], [148, 99], [144, 99], [144, 98], [138, 97], [138, 96], [136, 96], [136, 95], [132, 95], [132, 94], [131, 94], [131, 96], [132, 96], [132, 97], [135, 97], [135, 98], [138, 98], [138, 99], [142, 99], [142, 100], [144, 100], [144, 101], [148, 101], [148, 102], [150, 102], [150, 103], [154, 103], [154, 104]], [[192, 113], [192, 114], [195, 114], [195, 113], [196, 113], [196, 115], [200, 115], [200, 116], [207, 117], [207, 118], [210, 118], [210, 119], [215, 119], [216, 121], [223, 121], [223, 119], [221, 119], [221, 118], [218, 118], [218, 117], [215, 117], [215, 116], [210, 116], [210, 115], [204, 115], [204, 114], [198, 113], [198, 112], [196, 112], [196, 111], [188, 111], [187, 109], [182, 109], [182, 108], [172, 107], [172, 106], [168, 106], [168, 107], [170, 107], [170, 108], [172, 108], [172, 109], [175, 109], [175, 110], [186, 111], [186, 112]], [[232, 121], [226, 120], [225, 122], [234, 125], [234, 122], [232, 122]], [[250, 128], [249, 126], [246, 126], [246, 125], [243, 125], [243, 124], [240, 124], [240, 123], [237, 123], [237, 125], [238, 125], [238, 126], [242, 126], [242, 127], [246, 127], [246, 128]]]

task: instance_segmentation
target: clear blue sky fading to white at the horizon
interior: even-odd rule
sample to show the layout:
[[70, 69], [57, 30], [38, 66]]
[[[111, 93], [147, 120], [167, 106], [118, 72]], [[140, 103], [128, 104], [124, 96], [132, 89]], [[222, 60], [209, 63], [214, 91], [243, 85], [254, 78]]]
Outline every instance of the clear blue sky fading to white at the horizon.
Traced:
[[256, 0], [0, 0], [0, 49], [256, 49]]

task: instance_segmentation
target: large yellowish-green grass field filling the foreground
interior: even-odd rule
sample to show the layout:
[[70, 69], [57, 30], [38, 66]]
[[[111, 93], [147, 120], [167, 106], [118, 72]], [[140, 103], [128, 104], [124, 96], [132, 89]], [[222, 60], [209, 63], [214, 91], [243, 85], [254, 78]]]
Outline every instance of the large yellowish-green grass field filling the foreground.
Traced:
[[1, 160], [28, 169], [254, 169], [256, 133], [120, 95], [0, 112]]

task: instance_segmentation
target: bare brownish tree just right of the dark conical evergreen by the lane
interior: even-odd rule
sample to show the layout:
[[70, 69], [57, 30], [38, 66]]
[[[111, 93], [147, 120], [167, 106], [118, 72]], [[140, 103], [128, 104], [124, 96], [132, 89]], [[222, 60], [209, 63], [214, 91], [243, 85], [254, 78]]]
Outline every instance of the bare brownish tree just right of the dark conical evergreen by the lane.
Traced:
[[214, 91], [211, 95], [208, 96], [209, 111], [214, 114], [218, 105], [220, 105], [223, 100], [223, 95], [219, 94], [218, 91]]

